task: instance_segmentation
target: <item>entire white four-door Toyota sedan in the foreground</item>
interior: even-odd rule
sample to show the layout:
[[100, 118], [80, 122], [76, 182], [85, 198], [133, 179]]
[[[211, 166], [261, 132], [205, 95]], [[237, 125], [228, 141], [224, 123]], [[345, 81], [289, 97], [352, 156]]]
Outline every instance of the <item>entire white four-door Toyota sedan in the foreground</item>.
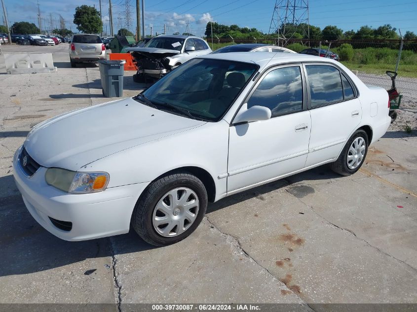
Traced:
[[290, 53], [190, 60], [136, 97], [35, 126], [14, 155], [32, 216], [68, 241], [189, 236], [208, 202], [330, 164], [357, 172], [390, 124], [388, 94]]

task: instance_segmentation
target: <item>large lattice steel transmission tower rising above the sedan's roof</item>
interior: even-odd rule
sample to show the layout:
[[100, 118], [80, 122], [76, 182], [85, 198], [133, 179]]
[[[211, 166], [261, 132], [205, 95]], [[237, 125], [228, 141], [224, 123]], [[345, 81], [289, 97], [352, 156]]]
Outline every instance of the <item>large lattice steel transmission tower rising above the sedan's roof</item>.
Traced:
[[276, 0], [268, 34], [278, 35], [287, 44], [289, 39], [299, 39], [298, 33], [308, 41], [310, 37], [308, 0]]

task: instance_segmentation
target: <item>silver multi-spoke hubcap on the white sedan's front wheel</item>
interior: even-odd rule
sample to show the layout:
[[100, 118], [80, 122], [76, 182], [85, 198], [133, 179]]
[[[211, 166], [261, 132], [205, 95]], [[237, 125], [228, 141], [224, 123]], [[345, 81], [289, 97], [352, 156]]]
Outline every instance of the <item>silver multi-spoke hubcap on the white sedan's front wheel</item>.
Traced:
[[188, 187], [179, 187], [161, 197], [153, 209], [152, 224], [164, 237], [187, 231], [195, 221], [199, 208], [197, 194]]

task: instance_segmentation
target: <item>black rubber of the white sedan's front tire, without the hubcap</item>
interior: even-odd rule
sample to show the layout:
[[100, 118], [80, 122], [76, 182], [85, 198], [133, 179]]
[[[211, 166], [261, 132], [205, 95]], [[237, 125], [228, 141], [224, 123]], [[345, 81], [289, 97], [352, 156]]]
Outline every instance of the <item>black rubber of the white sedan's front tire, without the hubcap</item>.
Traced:
[[[190, 188], [198, 197], [197, 216], [185, 232], [174, 237], [164, 237], [156, 232], [152, 224], [153, 210], [161, 198], [170, 190]], [[147, 243], [164, 246], [178, 243], [197, 228], [207, 209], [207, 191], [199, 178], [190, 173], [174, 173], [152, 182], [143, 192], [133, 210], [131, 224], [136, 233]]]

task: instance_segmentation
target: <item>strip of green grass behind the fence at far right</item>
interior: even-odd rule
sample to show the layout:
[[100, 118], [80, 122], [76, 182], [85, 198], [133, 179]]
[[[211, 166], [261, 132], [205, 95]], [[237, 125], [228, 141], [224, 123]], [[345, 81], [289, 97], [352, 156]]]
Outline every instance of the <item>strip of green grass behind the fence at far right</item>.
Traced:
[[[394, 64], [358, 64], [352, 62], [341, 62], [350, 70], [358, 70], [366, 73], [385, 75], [386, 70], [395, 70]], [[398, 67], [398, 77], [417, 78], [417, 64], [401, 65]]]

